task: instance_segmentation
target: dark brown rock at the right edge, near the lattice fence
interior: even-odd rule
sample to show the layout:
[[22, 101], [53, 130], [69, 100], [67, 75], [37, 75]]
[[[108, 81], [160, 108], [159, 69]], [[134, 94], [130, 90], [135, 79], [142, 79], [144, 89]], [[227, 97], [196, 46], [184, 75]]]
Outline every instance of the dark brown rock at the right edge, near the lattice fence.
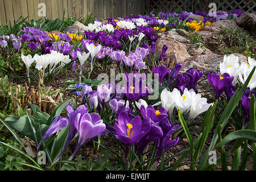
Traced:
[[244, 28], [250, 28], [251, 30], [256, 30], [256, 15], [253, 13], [243, 13], [242, 16], [235, 19], [238, 26]]

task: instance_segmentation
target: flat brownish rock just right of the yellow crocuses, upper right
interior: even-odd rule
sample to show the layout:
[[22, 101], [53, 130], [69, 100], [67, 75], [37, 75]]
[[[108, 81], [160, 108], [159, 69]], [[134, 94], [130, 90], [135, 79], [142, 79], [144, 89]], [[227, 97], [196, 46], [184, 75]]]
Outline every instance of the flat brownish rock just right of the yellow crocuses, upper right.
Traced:
[[220, 30], [221, 26], [223, 28], [237, 28], [238, 27], [235, 20], [228, 19], [228, 20], [220, 20], [220, 21], [217, 21], [215, 23], [209, 24], [208, 26], [205, 26], [205, 27], [201, 28], [199, 31], [213, 31], [213, 32], [216, 32], [216, 31]]

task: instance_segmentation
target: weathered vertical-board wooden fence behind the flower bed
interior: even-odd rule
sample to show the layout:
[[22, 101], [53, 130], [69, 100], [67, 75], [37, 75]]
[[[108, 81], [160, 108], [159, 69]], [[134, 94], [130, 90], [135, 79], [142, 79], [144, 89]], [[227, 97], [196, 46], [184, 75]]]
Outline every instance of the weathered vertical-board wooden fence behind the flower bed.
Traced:
[[65, 9], [75, 18], [86, 18], [92, 13], [97, 15], [97, 18], [106, 19], [144, 14], [147, 1], [149, 0], [0, 0], [0, 24], [9, 21], [13, 23], [14, 19], [27, 15], [28, 20], [42, 18], [38, 15], [39, 3], [45, 3], [49, 19], [62, 18]]

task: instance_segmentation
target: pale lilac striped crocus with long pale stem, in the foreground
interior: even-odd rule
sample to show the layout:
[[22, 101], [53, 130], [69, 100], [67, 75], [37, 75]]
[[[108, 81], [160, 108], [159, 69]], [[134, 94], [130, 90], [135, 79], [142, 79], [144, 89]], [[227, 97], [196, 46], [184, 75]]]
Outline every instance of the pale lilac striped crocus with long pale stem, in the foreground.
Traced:
[[103, 120], [98, 113], [79, 113], [73, 115], [73, 117], [75, 117], [74, 122], [76, 131], [79, 134], [79, 140], [76, 149], [69, 160], [72, 160], [75, 157], [76, 153], [86, 142], [91, 138], [102, 134], [106, 129], [106, 125], [103, 123]]

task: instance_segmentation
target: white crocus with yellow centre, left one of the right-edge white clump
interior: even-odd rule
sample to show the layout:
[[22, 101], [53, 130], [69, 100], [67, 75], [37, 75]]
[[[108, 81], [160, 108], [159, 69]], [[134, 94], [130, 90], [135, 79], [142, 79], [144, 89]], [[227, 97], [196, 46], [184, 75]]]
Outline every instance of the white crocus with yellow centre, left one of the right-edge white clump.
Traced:
[[229, 73], [234, 77], [233, 84], [236, 84], [238, 73], [240, 72], [239, 58], [235, 55], [224, 56], [224, 60], [220, 63], [220, 73]]

